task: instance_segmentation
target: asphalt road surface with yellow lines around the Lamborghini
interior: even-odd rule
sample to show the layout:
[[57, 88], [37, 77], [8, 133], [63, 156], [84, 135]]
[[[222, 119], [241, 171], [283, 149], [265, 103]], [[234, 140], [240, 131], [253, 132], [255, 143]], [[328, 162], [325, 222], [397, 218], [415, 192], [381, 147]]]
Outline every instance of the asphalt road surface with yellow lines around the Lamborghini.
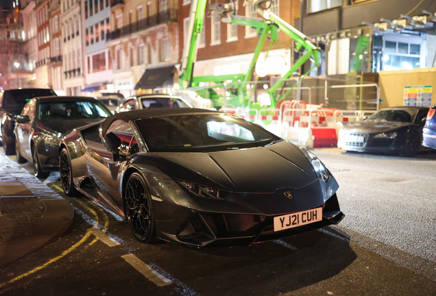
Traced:
[[[436, 295], [436, 151], [315, 154], [340, 185], [338, 226], [252, 247], [146, 245], [120, 217], [66, 197], [73, 225], [3, 267], [0, 295]], [[42, 181], [64, 196], [57, 173]]]

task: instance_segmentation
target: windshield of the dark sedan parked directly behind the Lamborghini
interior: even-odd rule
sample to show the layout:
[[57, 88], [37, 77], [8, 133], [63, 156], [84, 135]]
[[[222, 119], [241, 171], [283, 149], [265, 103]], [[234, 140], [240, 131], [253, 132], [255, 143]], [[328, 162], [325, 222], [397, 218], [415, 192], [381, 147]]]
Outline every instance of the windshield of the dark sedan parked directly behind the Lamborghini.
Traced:
[[112, 114], [99, 102], [62, 101], [39, 103], [38, 120], [97, 119]]

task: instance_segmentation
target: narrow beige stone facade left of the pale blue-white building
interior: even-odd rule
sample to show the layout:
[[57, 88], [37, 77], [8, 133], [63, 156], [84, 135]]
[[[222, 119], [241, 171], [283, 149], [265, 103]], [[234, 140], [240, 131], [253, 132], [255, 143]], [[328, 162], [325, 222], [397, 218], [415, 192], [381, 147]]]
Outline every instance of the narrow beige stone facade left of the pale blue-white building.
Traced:
[[66, 95], [82, 95], [85, 86], [80, 0], [62, 0], [63, 87]]

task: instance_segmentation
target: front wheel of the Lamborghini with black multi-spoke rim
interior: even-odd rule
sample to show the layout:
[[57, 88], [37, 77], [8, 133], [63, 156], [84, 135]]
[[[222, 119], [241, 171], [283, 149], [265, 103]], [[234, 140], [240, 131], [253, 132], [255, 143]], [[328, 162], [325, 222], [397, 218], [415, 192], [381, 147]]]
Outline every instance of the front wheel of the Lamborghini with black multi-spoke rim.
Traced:
[[156, 238], [156, 222], [150, 196], [143, 176], [132, 173], [124, 190], [125, 216], [134, 237], [143, 243], [152, 243]]

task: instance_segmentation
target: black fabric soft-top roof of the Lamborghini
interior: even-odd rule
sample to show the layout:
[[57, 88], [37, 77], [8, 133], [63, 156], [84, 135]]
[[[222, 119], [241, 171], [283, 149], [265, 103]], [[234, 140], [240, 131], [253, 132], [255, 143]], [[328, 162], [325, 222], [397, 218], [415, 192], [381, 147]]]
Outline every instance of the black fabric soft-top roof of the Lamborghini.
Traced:
[[134, 121], [136, 119], [160, 117], [167, 115], [178, 115], [178, 114], [193, 114], [193, 113], [220, 113], [218, 111], [198, 109], [198, 108], [147, 108], [141, 110], [132, 110], [128, 112], [120, 112], [109, 116], [101, 124], [101, 134], [106, 134], [109, 126], [117, 120], [121, 121]]

